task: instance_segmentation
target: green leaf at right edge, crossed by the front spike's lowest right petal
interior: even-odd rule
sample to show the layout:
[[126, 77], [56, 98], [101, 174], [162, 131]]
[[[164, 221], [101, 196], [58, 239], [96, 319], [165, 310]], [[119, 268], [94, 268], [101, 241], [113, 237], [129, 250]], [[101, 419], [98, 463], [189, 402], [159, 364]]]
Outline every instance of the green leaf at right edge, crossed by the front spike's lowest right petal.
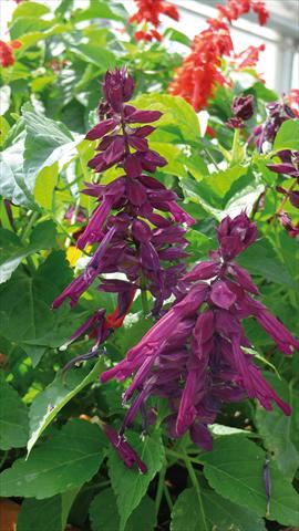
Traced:
[[[295, 391], [288, 388], [285, 381], [274, 374], [267, 374], [267, 381], [280, 398], [292, 405]], [[256, 425], [267, 449], [275, 456], [279, 470], [291, 481], [299, 466], [299, 452], [292, 440], [293, 415], [287, 417], [276, 405], [271, 414], [260, 407], [256, 410]]]

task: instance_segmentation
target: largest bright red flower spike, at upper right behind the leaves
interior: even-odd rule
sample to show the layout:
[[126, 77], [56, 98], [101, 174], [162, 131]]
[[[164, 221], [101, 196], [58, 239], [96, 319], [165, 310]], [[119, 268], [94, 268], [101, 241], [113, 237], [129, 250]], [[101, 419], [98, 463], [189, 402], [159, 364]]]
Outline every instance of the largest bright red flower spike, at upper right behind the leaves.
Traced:
[[262, 1], [228, 0], [226, 6], [218, 6], [218, 15], [209, 19], [207, 30], [194, 38], [189, 55], [177, 69], [168, 87], [171, 94], [184, 97], [196, 112], [207, 105], [216, 84], [227, 83], [220, 72], [221, 58], [229, 56], [234, 46], [226, 23], [231, 23], [250, 9], [259, 14], [260, 23], [265, 23], [268, 12]]

